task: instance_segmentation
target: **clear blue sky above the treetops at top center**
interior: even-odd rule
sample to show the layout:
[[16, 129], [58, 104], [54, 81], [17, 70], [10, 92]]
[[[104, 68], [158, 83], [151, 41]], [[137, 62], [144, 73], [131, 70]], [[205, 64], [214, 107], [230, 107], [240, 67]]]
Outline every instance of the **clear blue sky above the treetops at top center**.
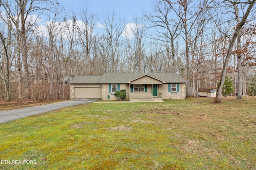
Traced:
[[147, 11], [152, 7], [153, 0], [62, 0], [67, 12], [81, 11], [81, 8], [87, 6], [90, 12], [98, 14], [116, 13], [120, 19], [125, 19], [127, 22], [133, 22], [135, 15], [138, 17], [143, 15], [143, 11]]

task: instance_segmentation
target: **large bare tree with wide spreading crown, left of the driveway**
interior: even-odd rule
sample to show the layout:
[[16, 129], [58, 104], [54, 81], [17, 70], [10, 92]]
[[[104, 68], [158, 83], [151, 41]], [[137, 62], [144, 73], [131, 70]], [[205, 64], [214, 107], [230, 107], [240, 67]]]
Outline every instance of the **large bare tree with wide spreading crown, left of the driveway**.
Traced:
[[[23, 59], [25, 98], [30, 98], [30, 80], [28, 72], [28, 32], [32, 30], [38, 18], [33, 18], [32, 14], [39, 12], [43, 8], [42, 3], [50, 3], [49, 0], [2, 0], [2, 7], [6, 16], [15, 25], [16, 33], [21, 40], [21, 53]], [[46, 9], [45, 9], [46, 10]], [[39, 13], [38, 13], [39, 14]], [[16, 19], [18, 17], [18, 19]], [[16, 39], [18, 41], [19, 39]]]

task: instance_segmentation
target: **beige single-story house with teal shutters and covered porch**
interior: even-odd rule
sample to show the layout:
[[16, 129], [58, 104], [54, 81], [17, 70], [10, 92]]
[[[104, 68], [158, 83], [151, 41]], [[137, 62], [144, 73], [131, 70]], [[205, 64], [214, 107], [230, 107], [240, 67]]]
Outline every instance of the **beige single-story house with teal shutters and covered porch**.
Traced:
[[126, 100], [185, 99], [187, 80], [176, 73], [105, 73], [102, 76], [75, 76], [70, 99], [116, 100], [126, 90]]

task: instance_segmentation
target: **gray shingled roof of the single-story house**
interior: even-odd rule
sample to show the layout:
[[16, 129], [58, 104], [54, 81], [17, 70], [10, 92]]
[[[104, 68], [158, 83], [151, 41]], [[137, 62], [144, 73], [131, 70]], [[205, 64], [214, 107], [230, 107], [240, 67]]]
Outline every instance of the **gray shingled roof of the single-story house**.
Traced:
[[149, 75], [166, 83], [187, 83], [176, 73], [105, 73], [102, 76], [75, 76], [69, 84], [125, 84], [138, 77]]

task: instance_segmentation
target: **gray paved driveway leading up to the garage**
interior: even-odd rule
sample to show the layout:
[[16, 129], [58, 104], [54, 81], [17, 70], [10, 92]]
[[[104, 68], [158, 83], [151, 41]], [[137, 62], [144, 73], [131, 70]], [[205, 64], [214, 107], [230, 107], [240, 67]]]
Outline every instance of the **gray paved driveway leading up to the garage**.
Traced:
[[58, 102], [54, 104], [46, 104], [34, 107], [26, 107], [22, 109], [15, 109], [15, 110], [7, 110], [7, 111], [0, 111], [0, 123], [8, 122], [15, 119], [20, 119], [22, 117], [28, 117], [31, 115], [36, 115], [68, 106], [74, 106], [78, 104], [87, 104], [95, 102], [97, 99], [76, 99], [76, 100], [68, 100], [65, 102]]

